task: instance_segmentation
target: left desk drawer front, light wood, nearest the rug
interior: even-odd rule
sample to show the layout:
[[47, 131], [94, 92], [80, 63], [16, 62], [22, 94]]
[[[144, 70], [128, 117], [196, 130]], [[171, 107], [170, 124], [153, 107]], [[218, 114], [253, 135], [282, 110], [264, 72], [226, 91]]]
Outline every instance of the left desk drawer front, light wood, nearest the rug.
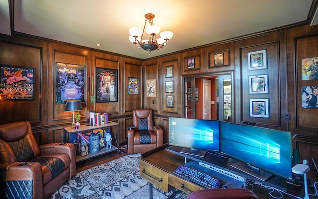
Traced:
[[152, 183], [159, 189], [168, 193], [168, 173], [159, 169], [158, 167], [144, 161], [139, 160], [139, 172], [140, 176]]

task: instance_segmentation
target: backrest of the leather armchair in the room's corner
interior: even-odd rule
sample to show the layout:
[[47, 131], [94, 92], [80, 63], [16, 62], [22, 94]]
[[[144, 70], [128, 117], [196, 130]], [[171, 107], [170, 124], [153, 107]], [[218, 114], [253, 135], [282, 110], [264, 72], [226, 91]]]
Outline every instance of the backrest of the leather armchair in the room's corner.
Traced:
[[135, 131], [153, 131], [153, 112], [151, 109], [133, 110]]

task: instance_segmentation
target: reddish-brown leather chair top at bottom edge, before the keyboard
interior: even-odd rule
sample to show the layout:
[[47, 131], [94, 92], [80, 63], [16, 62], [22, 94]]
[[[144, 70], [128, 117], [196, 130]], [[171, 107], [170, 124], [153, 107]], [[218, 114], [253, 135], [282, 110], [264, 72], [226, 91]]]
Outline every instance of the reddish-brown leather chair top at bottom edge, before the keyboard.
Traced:
[[248, 189], [203, 189], [192, 192], [187, 199], [258, 199]]

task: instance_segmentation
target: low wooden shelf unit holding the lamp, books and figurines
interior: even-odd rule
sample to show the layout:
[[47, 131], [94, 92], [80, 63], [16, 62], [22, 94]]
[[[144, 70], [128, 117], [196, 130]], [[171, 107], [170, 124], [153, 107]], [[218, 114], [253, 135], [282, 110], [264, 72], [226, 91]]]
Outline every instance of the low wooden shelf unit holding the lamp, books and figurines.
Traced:
[[[76, 156], [76, 162], [80, 162], [80, 161], [83, 161], [85, 159], [89, 159], [89, 158], [92, 158], [92, 157], [96, 157], [96, 156], [99, 156], [99, 155], [102, 155], [102, 154], [105, 154], [105, 153], [109, 153], [109, 152], [112, 152], [112, 151], [115, 151], [117, 150], [118, 151], [118, 154], [119, 154], [119, 127], [118, 127], [118, 123], [115, 123], [115, 122], [108, 122], [108, 124], [105, 124], [105, 125], [98, 125], [98, 126], [80, 126], [79, 129], [73, 129], [71, 127], [67, 127], [67, 128], [64, 128], [64, 131], [65, 133], [68, 133], [69, 134], [69, 139], [70, 139], [70, 135], [73, 134], [73, 133], [80, 133], [80, 132], [91, 132], [93, 133], [93, 131], [95, 129], [106, 129], [106, 128], [111, 128], [113, 126], [117, 126], [117, 135], [116, 133], [114, 132], [114, 138], [116, 140], [116, 144], [117, 146], [114, 146], [112, 145], [111, 148], [102, 148], [100, 149], [99, 152], [97, 153], [94, 153], [94, 154], [91, 154], [89, 153], [88, 155], [85, 155], [85, 156]], [[70, 142], [70, 140], [67, 140]]]

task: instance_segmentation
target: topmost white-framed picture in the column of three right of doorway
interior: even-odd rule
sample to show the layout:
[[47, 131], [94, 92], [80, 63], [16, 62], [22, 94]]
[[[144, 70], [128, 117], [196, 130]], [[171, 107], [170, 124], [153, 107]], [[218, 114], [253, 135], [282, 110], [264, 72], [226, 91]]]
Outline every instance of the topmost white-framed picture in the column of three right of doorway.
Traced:
[[248, 70], [267, 68], [266, 50], [247, 53]]

